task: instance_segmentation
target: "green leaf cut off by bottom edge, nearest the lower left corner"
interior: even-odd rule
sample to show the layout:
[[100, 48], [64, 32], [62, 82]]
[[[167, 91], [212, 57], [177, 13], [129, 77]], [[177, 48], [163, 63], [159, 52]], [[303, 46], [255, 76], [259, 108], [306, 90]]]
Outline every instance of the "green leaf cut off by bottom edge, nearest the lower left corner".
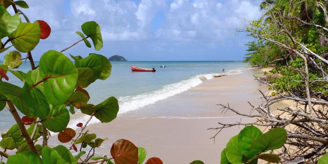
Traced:
[[33, 152], [22, 152], [8, 157], [7, 164], [33, 163], [41, 164], [41, 159]]

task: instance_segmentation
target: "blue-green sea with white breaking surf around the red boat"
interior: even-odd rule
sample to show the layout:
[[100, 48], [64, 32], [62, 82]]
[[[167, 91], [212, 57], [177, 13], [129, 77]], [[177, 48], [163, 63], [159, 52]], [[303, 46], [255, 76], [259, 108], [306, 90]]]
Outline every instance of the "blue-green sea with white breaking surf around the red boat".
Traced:
[[[222, 73], [239, 73], [248, 68], [247, 64], [237, 61], [114, 61], [112, 74], [106, 80], [97, 80], [86, 90], [90, 94], [91, 104], [98, 104], [109, 96], [119, 100], [119, 114], [138, 110], [159, 100], [185, 92], [204, 80]], [[36, 65], [38, 63], [36, 62]], [[166, 68], [159, 68], [165, 65]], [[157, 72], [132, 72], [130, 66], [144, 68], [155, 67]], [[20, 71], [30, 70], [30, 64], [24, 63]], [[23, 86], [23, 83], [8, 73], [10, 83]], [[1, 112], [0, 130], [14, 124], [8, 110]]]

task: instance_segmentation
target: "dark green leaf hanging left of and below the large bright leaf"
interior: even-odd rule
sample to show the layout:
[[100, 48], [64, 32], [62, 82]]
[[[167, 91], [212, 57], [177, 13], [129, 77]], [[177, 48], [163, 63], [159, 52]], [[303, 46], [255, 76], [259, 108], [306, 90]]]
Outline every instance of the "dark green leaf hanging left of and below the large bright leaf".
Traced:
[[[20, 108], [26, 108], [31, 114], [26, 114], [28, 117], [40, 117], [40, 119], [45, 119], [49, 115], [49, 104], [45, 95], [38, 88], [34, 87], [34, 76], [32, 76], [33, 71], [29, 71], [25, 74], [24, 87], [22, 91], [17, 96], [24, 103]], [[14, 103], [15, 104], [15, 103]], [[16, 104], [15, 104], [16, 105]], [[19, 104], [20, 105], [20, 104]], [[18, 107], [17, 107], [18, 108]], [[19, 108], [18, 108], [19, 109]], [[19, 109], [20, 111], [20, 109]], [[23, 110], [25, 111], [25, 109]], [[23, 111], [21, 111], [23, 113]]]

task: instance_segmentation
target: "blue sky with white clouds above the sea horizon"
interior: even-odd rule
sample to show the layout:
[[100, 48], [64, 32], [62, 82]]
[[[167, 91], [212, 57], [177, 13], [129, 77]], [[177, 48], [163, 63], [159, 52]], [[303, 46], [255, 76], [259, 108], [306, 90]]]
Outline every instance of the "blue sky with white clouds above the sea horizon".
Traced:
[[[242, 60], [252, 40], [245, 29], [261, 16], [260, 0], [26, 0], [22, 11], [45, 20], [51, 34], [32, 51], [35, 60], [46, 51], [60, 51], [80, 37], [81, 25], [100, 25], [104, 47], [100, 51], [83, 42], [65, 51], [68, 55], [128, 60]], [[13, 11], [11, 11], [13, 12]]]

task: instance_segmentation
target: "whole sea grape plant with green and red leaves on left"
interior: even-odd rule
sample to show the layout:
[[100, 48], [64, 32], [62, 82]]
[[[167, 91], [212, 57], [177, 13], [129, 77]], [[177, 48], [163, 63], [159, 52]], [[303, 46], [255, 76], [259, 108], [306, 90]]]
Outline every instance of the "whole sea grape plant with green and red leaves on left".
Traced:
[[[7, 11], [8, 7], [14, 9], [14, 15]], [[29, 6], [24, 1], [0, 0], [0, 53], [15, 49], [4, 55], [0, 65], [0, 111], [8, 109], [16, 121], [1, 134], [1, 163], [143, 163], [146, 150], [125, 139], [114, 142], [110, 154], [95, 157], [95, 150], [107, 138], [97, 138], [96, 134], [85, 131], [93, 117], [110, 122], [117, 116], [119, 105], [115, 97], [93, 105], [89, 104], [91, 97], [85, 90], [96, 80], [109, 78], [112, 66], [100, 54], [91, 53], [85, 58], [70, 55], [72, 62], [64, 52], [81, 41], [90, 48], [88, 38], [94, 49], [100, 50], [103, 47], [100, 26], [93, 21], [84, 23], [82, 32], [76, 32], [80, 40], [61, 51], [45, 52], [36, 66], [32, 50], [42, 42], [40, 39], [48, 38], [51, 28], [44, 20], [30, 22], [19, 8]], [[22, 60], [30, 61], [30, 71], [16, 70]], [[7, 76], [9, 72], [22, 81], [23, 87], [12, 83]], [[17, 110], [24, 116], [20, 117]], [[87, 122], [76, 125], [78, 132], [67, 128], [70, 113], [74, 114], [75, 110], [90, 115]], [[50, 132], [57, 133], [58, 140], [69, 146], [47, 146]], [[157, 157], [146, 161], [146, 164], [157, 163], [162, 163]]]

